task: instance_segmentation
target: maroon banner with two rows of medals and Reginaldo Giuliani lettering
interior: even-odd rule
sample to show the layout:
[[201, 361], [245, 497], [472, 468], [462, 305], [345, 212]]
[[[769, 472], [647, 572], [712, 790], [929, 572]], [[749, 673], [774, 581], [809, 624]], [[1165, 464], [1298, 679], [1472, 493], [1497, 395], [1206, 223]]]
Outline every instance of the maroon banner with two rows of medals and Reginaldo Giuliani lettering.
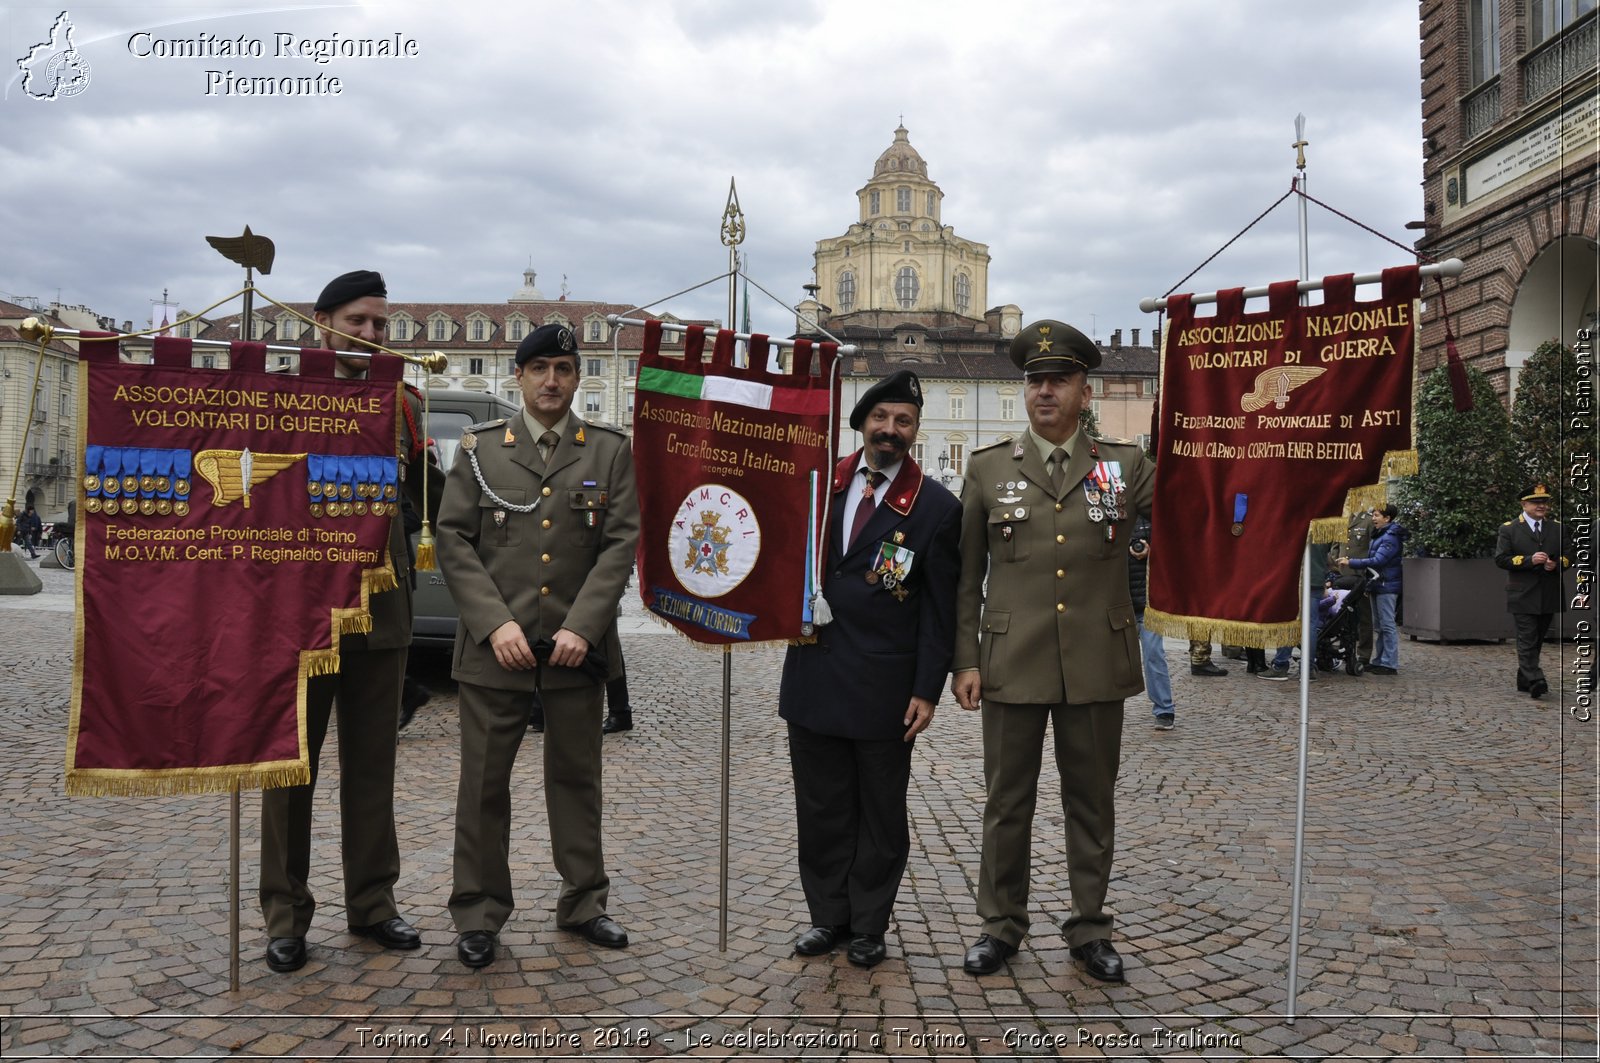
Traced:
[[266, 373], [150, 365], [85, 339], [78, 368], [77, 631], [69, 794], [310, 781], [306, 682], [392, 588], [400, 360]]

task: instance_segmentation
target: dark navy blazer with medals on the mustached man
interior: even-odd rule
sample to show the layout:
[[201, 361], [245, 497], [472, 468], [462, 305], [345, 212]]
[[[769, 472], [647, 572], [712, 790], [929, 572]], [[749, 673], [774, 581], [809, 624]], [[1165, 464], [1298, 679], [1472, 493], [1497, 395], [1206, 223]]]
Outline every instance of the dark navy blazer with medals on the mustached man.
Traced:
[[938, 704], [950, 674], [962, 506], [907, 456], [846, 544], [845, 498], [859, 458], [834, 471], [822, 575], [834, 621], [814, 644], [789, 647], [778, 714], [821, 735], [891, 741], [906, 735], [910, 700]]

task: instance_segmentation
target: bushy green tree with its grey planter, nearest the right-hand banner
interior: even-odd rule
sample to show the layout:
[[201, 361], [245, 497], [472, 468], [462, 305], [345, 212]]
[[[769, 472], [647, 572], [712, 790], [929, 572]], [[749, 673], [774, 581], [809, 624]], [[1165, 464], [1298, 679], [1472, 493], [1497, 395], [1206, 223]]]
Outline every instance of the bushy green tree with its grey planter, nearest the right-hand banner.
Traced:
[[1416, 395], [1418, 472], [1400, 480], [1395, 504], [1416, 557], [1402, 562], [1405, 623], [1413, 639], [1510, 639], [1506, 573], [1494, 536], [1517, 514], [1522, 474], [1510, 418], [1488, 376], [1467, 368], [1472, 408], [1458, 413], [1445, 367]]

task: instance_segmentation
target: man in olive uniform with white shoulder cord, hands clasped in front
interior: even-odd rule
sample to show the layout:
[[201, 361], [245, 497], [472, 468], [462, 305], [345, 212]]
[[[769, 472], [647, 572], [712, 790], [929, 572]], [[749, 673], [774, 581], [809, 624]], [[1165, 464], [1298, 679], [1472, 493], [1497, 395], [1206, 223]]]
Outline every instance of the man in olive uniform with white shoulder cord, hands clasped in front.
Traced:
[[[562, 876], [555, 919], [595, 945], [622, 948], [606, 916], [600, 850], [602, 684], [581, 666], [621, 664], [616, 607], [638, 544], [627, 437], [571, 416], [578, 344], [541, 325], [517, 347], [520, 416], [461, 440], [438, 514], [438, 560], [461, 607], [461, 684], [450, 914], [467, 967], [494, 961], [510, 917], [510, 772], [534, 692], [544, 703], [544, 799]], [[536, 656], [547, 653], [547, 656]], [[594, 652], [594, 655], [590, 655]]]

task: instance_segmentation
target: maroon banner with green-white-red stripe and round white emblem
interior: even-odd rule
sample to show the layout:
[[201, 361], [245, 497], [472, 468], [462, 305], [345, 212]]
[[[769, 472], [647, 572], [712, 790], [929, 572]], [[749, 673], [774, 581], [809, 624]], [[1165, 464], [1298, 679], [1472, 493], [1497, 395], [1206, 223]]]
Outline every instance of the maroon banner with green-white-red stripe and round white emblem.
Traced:
[[795, 344], [790, 373], [766, 368], [752, 336], [691, 328], [683, 357], [661, 354], [650, 322], [634, 408], [638, 592], [696, 642], [766, 642], [811, 631], [838, 423], [837, 346]]

